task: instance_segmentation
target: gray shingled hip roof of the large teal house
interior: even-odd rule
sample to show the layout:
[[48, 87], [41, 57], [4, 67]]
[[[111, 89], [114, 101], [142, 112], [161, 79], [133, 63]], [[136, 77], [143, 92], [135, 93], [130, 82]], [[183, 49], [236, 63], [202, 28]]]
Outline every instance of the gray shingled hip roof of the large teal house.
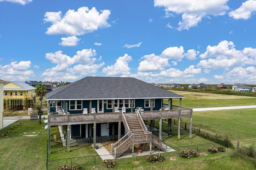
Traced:
[[184, 98], [136, 78], [85, 77], [46, 94], [46, 100]]

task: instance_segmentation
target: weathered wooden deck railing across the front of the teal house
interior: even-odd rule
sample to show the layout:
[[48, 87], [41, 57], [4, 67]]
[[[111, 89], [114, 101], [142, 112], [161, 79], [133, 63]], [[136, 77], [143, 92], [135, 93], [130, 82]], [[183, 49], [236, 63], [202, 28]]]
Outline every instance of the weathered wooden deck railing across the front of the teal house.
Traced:
[[[137, 117], [137, 113], [126, 113], [126, 117]], [[192, 109], [172, 109], [172, 110], [157, 110], [143, 111], [140, 113], [143, 120], [153, 119], [171, 119], [192, 117]], [[87, 113], [87, 114], [48, 114], [48, 124], [55, 125], [76, 125], [90, 123], [107, 123], [122, 121], [122, 113]]]

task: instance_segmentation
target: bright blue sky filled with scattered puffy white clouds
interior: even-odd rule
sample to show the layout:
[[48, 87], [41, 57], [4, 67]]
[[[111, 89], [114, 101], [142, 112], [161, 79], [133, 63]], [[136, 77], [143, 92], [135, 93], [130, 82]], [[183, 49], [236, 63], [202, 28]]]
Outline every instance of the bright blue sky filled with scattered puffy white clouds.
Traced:
[[0, 0], [0, 79], [256, 84], [256, 0]]

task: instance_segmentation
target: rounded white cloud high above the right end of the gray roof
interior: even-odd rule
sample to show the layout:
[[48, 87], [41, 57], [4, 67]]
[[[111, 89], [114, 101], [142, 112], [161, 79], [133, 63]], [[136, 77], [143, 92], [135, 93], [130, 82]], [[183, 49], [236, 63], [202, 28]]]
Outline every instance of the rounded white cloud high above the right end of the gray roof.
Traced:
[[184, 53], [184, 49], [182, 46], [180, 46], [180, 48], [168, 47], [162, 52], [160, 56], [165, 57], [167, 59], [174, 59], [176, 61], [181, 61], [182, 58], [184, 57], [183, 53]]

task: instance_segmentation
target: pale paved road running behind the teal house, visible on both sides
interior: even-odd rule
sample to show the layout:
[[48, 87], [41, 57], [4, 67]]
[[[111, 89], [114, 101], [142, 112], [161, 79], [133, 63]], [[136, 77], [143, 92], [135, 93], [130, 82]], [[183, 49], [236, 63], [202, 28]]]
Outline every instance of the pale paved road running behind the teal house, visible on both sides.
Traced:
[[[210, 111], [210, 110], [230, 110], [230, 109], [249, 109], [256, 108], [256, 105], [253, 106], [229, 106], [229, 107], [205, 107], [205, 108], [194, 108], [193, 111]], [[48, 118], [47, 115], [42, 115], [43, 118]], [[30, 119], [30, 116], [15, 116], [15, 117], [4, 117], [3, 125], [4, 127], [18, 121], [18, 119]]]

